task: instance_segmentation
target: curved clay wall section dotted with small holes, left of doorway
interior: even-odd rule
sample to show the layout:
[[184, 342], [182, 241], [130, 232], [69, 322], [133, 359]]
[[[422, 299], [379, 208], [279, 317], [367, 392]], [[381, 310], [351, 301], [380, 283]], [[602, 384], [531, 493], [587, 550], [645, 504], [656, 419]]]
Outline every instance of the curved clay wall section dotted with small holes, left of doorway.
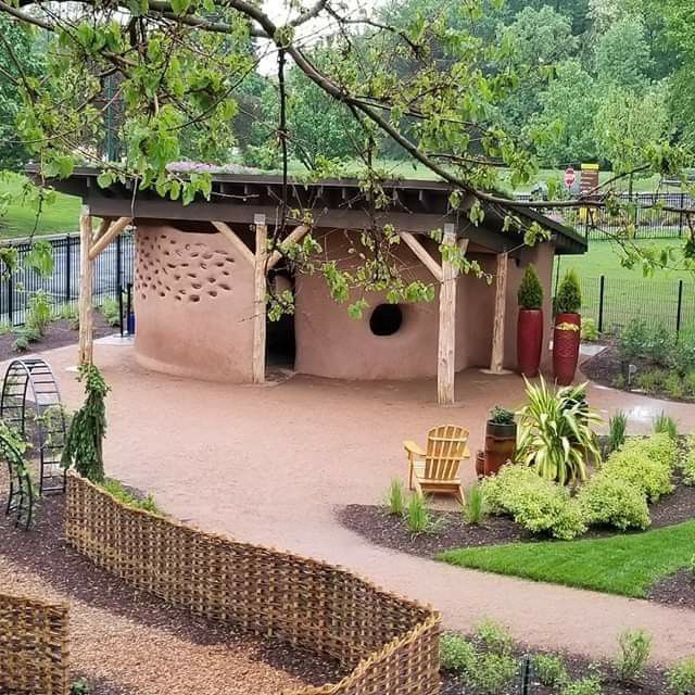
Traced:
[[135, 350], [146, 367], [251, 381], [253, 269], [220, 233], [138, 222]]

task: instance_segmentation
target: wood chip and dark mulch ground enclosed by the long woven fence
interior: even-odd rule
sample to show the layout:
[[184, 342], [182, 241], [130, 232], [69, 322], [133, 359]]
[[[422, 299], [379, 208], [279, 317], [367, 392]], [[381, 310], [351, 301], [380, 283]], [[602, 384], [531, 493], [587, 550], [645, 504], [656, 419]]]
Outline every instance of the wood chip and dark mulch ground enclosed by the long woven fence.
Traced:
[[0, 517], [0, 591], [70, 603], [71, 678], [86, 679], [92, 695], [278, 695], [342, 675], [311, 653], [212, 624], [100, 570], [65, 543], [62, 495], [41, 501], [30, 532]]

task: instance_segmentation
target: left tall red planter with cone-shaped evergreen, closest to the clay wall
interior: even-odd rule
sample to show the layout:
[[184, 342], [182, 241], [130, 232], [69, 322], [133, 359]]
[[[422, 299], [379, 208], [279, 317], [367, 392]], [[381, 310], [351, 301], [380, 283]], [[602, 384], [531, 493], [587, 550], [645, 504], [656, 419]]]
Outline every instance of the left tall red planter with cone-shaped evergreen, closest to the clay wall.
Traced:
[[536, 377], [543, 350], [543, 286], [532, 264], [523, 270], [517, 300], [517, 365], [525, 377]]

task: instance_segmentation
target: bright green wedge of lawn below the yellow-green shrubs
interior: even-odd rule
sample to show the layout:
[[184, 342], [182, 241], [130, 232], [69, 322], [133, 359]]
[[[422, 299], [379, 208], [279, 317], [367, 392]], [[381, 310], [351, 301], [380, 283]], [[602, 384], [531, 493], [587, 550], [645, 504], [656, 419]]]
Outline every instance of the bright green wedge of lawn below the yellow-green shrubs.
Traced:
[[450, 565], [539, 582], [642, 598], [658, 580], [688, 565], [695, 520], [643, 533], [584, 541], [545, 541], [441, 553]]

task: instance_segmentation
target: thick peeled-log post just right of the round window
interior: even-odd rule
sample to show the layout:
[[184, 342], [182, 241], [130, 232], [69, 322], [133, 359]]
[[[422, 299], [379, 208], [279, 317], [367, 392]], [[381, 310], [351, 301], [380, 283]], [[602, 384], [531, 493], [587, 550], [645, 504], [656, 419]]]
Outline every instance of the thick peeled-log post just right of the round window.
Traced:
[[[454, 225], [444, 225], [442, 243], [456, 244]], [[440, 405], [454, 404], [456, 375], [456, 278], [458, 268], [442, 255], [442, 285], [439, 290], [439, 351], [437, 361], [437, 400]]]

